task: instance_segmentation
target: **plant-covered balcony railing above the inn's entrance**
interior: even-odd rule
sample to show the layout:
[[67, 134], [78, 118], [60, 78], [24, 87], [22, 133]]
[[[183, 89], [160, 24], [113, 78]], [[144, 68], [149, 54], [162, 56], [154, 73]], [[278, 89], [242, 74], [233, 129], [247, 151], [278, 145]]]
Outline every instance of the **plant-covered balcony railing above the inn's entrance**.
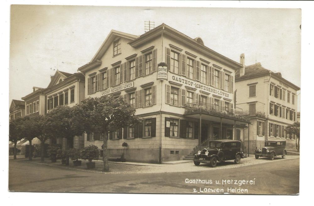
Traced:
[[204, 102], [194, 102], [185, 104], [185, 114], [193, 114], [202, 112], [204, 114], [216, 115], [219, 117], [227, 117], [230, 119], [239, 119], [242, 121], [249, 120], [249, 113], [237, 111], [233, 108], [221, 107], [215, 104]]

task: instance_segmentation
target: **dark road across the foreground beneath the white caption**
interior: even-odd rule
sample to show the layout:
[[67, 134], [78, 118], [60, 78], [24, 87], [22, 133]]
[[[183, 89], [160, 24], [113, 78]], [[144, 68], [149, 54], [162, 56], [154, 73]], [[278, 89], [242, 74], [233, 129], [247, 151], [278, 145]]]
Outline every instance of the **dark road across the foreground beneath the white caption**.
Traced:
[[[207, 182], [186, 183], [186, 181], [198, 181], [198, 179]], [[216, 180], [219, 181], [219, 184], [216, 184]], [[239, 181], [222, 182], [222, 180], [247, 181], [245, 184], [241, 182], [242, 185], [239, 185]], [[252, 182], [249, 182], [250, 180]], [[230, 188], [237, 190], [234, 191]], [[214, 189], [216, 190], [213, 191]], [[299, 192], [299, 159], [268, 161], [224, 170], [151, 174], [106, 174], [9, 160], [9, 190], [96, 193], [296, 194]]]

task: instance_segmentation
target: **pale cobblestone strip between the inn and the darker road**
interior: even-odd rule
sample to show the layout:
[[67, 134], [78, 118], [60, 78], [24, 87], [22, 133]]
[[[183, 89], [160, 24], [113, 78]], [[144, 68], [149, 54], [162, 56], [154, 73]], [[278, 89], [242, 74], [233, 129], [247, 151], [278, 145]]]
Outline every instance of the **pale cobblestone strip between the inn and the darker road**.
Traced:
[[[44, 163], [40, 162], [40, 159], [36, 158], [33, 162], [37, 164], [45, 164], [50, 166], [57, 166], [63, 169], [74, 169], [74, 170], [88, 170], [90, 172], [101, 172], [106, 174], [132, 174], [132, 173], [168, 173], [168, 172], [195, 172], [195, 171], [209, 171], [209, 170], [221, 170], [221, 169], [231, 169], [231, 168], [238, 168], [262, 163], [269, 163], [275, 161], [285, 161], [289, 159], [296, 159], [300, 158], [299, 156], [286, 156], [285, 159], [281, 157], [275, 157], [273, 161], [268, 160], [268, 158], [259, 158], [255, 159], [252, 155], [247, 158], [241, 159], [240, 164], [235, 164], [234, 161], [227, 161], [227, 162], [218, 162], [217, 166], [212, 168], [208, 164], [201, 163], [199, 166], [195, 166], [193, 161], [175, 164], [175, 165], [159, 165], [159, 166], [141, 166], [141, 165], [130, 165], [130, 164], [119, 164], [119, 163], [109, 163], [109, 172], [103, 172], [103, 163], [102, 162], [95, 162], [96, 167], [94, 169], [87, 169], [86, 168], [86, 161], [82, 161], [82, 166], [74, 167], [72, 162], [69, 166], [61, 165], [60, 162], [51, 163], [49, 160], [46, 160]], [[27, 161], [27, 160], [24, 160]]]

